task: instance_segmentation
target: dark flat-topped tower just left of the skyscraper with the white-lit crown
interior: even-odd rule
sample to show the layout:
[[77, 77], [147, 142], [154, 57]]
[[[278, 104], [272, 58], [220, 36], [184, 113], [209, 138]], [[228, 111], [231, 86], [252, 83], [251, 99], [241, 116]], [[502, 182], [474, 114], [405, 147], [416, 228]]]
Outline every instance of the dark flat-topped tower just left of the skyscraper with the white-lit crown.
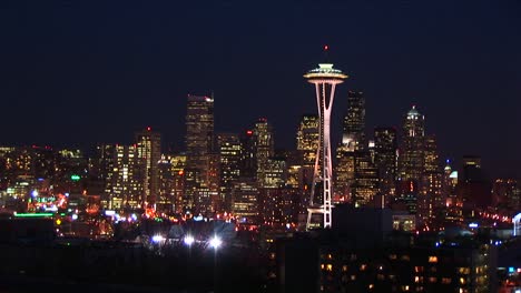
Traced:
[[374, 164], [379, 170], [380, 192], [383, 195], [395, 195], [397, 140], [394, 128], [374, 129]]

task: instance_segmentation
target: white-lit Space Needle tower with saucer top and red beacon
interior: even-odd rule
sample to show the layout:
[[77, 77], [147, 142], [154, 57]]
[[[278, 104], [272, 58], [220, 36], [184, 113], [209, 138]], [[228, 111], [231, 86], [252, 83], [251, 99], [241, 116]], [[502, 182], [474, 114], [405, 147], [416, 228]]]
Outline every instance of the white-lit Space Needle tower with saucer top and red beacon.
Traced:
[[[328, 47], [324, 47], [327, 53]], [[331, 110], [335, 98], [336, 84], [344, 82], [347, 78], [341, 70], [334, 69], [332, 63], [320, 63], [318, 68], [312, 69], [304, 74], [309, 83], [315, 84], [316, 104], [321, 121], [318, 133], [318, 149], [316, 150], [315, 169], [313, 172], [313, 185], [311, 190], [309, 205], [307, 209], [306, 230], [316, 228], [312, 223], [313, 214], [322, 214], [323, 228], [331, 228], [333, 193], [332, 176], [333, 166], [331, 162]], [[322, 195], [322, 196], [321, 196]], [[315, 202], [315, 196], [317, 202]], [[322, 199], [320, 199], [322, 198]]]

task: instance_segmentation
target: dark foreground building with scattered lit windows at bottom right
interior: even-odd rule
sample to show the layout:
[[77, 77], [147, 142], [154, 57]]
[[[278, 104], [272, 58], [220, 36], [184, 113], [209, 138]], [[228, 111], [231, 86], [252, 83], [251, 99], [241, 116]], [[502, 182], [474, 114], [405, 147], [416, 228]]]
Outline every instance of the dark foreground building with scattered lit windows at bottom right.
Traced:
[[348, 229], [277, 242], [279, 292], [497, 292], [493, 245], [463, 234], [387, 233], [385, 210], [358, 209], [346, 218]]

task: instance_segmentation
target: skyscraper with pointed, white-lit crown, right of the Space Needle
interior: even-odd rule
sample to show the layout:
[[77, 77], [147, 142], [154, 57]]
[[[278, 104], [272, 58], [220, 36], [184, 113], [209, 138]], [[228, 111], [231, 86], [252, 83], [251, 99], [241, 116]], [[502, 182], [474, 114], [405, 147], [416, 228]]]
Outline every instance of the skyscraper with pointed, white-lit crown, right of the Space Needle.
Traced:
[[416, 107], [405, 115], [403, 124], [403, 145], [400, 152], [400, 179], [420, 182], [424, 171], [424, 137], [425, 117], [420, 114]]

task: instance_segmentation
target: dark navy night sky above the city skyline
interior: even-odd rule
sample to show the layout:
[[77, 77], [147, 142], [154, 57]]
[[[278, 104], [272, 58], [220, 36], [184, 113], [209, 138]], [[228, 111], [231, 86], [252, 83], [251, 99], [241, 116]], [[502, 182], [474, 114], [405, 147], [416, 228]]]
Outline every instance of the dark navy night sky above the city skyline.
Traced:
[[327, 43], [351, 75], [336, 140], [362, 90], [370, 135], [416, 104], [443, 158], [520, 178], [520, 16], [517, 0], [1, 1], [0, 144], [130, 143], [150, 125], [181, 150], [187, 93], [214, 91], [217, 132], [265, 117], [293, 149]]

